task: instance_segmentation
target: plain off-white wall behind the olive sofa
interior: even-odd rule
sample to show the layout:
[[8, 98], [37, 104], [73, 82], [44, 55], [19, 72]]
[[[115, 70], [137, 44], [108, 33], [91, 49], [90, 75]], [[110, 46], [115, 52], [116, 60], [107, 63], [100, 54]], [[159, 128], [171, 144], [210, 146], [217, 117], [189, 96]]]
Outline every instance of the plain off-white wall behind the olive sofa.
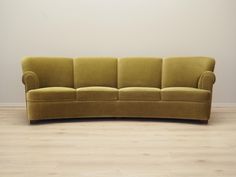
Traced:
[[216, 58], [214, 102], [236, 103], [235, 0], [0, 0], [0, 103], [23, 102], [23, 56]]

